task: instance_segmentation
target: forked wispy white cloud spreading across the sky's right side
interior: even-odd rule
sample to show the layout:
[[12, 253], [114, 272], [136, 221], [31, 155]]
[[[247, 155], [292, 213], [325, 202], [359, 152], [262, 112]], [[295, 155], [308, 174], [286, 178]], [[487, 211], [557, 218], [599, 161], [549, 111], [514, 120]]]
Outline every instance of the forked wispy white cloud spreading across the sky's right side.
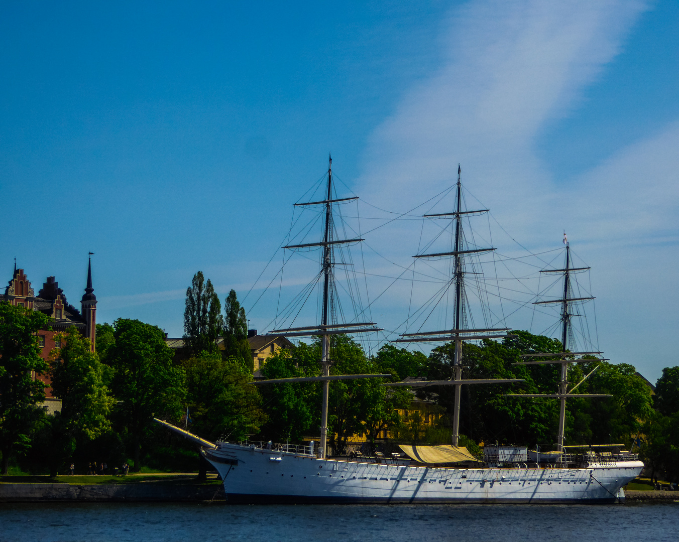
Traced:
[[[679, 123], [668, 119], [659, 133], [576, 176], [555, 178], [536, 151], [545, 126], [579, 106], [583, 90], [621, 52], [648, 7], [639, 0], [479, 0], [454, 10], [443, 27], [443, 63], [407, 90], [375, 129], [357, 191], [405, 210], [450, 185], [460, 162], [466, 187], [526, 246], [555, 248], [560, 230], [568, 229], [583, 257], [595, 258], [605, 277], [598, 292], [607, 298], [598, 302], [607, 320], [600, 324], [604, 343], [617, 349], [612, 353], [619, 361], [645, 364], [653, 376], [663, 366], [658, 364], [666, 364], [666, 352], [650, 353], [657, 363], [644, 361], [649, 353], [641, 345], [648, 341], [631, 344], [629, 337], [638, 336], [651, 315], [640, 318], [625, 304], [629, 292], [646, 294], [644, 284], [653, 283], [636, 309], [653, 313], [653, 326], [658, 311], [665, 320], [676, 314], [667, 299], [653, 298], [655, 309], [649, 300], [672, 287], [677, 258], [644, 248], [643, 257], [630, 259], [621, 251], [635, 244], [676, 244]], [[375, 232], [371, 244], [405, 264], [414, 244], [403, 242], [407, 227], [399, 227], [397, 233]], [[642, 282], [649, 257], [655, 276]], [[646, 331], [659, 338], [676, 325], [674, 317]]]

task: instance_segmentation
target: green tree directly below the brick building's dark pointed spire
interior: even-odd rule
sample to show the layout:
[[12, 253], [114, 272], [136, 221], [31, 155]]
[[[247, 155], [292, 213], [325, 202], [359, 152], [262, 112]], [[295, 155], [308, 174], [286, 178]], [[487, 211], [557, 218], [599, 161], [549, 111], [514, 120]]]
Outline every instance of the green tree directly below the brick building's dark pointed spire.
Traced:
[[105, 368], [91, 351], [90, 341], [75, 327], [61, 334], [62, 347], [50, 355], [52, 390], [61, 410], [50, 420], [50, 473], [56, 476], [78, 444], [95, 440], [111, 429], [115, 400], [104, 384]]

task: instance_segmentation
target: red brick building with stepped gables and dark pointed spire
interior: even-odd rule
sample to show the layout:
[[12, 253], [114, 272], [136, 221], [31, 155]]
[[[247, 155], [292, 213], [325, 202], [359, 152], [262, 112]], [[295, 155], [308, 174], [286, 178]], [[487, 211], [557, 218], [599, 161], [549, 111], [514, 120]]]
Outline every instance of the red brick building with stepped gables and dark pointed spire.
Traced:
[[[94, 352], [96, 343], [96, 296], [94, 295], [94, 288], [92, 288], [92, 258], [88, 262], [87, 286], [80, 301], [80, 311], [69, 304], [64, 290], [59, 288], [59, 283], [54, 280], [54, 277], [47, 277], [47, 281], [43, 283], [43, 287], [36, 296], [24, 270], [16, 269], [16, 264], [10, 284], [7, 285], [5, 294], [0, 296], [0, 299], [12, 305], [40, 311], [52, 319], [50, 321], [52, 330], [38, 332], [40, 357], [43, 360], [49, 359], [52, 349], [61, 347], [61, 341], [55, 335], [66, 331], [71, 326], [78, 328], [81, 334], [90, 339]], [[50, 384], [49, 377], [44, 374], [37, 374], [35, 377], [45, 384]], [[45, 396], [53, 398], [52, 388], [45, 389]]]

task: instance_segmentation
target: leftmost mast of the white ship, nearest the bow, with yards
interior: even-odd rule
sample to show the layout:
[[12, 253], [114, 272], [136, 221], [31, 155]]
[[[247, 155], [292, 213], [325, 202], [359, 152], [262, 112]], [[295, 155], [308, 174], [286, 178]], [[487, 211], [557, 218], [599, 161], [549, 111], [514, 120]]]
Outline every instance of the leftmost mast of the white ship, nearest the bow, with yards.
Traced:
[[329, 157], [327, 190], [325, 199], [321, 201], [310, 201], [304, 204], [295, 204], [295, 206], [325, 206], [325, 221], [323, 224], [323, 241], [320, 243], [306, 243], [299, 245], [287, 245], [284, 249], [298, 249], [298, 248], [323, 248], [321, 256], [321, 267], [323, 274], [323, 310], [320, 317], [320, 326], [306, 326], [297, 328], [286, 328], [280, 330], [272, 330], [270, 333], [284, 336], [320, 336], [320, 366], [322, 370], [321, 376], [306, 376], [292, 379], [272, 379], [264, 381], [255, 381], [257, 385], [262, 384], [277, 384], [277, 383], [297, 383], [297, 382], [314, 382], [320, 381], [323, 383], [323, 403], [320, 412], [320, 457], [325, 457], [327, 447], [328, 435], [328, 397], [330, 391], [330, 381], [335, 380], [353, 380], [353, 379], [371, 379], [371, 378], [388, 378], [390, 374], [346, 374], [346, 375], [332, 375], [330, 374], [330, 366], [332, 360], [330, 359], [330, 336], [335, 334], [349, 334], [349, 333], [365, 333], [382, 331], [382, 328], [376, 328], [373, 322], [359, 322], [350, 324], [337, 324], [330, 322], [333, 318], [333, 267], [335, 261], [333, 258], [333, 246], [339, 244], [351, 244], [363, 241], [364, 239], [333, 239], [333, 203], [344, 201], [352, 201], [358, 197], [343, 197], [333, 199], [333, 159]]

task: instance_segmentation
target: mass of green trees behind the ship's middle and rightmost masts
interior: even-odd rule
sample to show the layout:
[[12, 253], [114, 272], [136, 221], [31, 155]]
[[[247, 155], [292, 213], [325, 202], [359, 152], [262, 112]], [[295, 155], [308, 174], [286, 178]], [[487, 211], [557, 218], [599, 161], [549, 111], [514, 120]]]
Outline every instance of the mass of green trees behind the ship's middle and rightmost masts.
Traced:
[[[502, 344], [484, 341], [482, 346], [464, 345], [463, 377], [469, 379], [524, 379], [521, 385], [462, 386], [460, 432], [475, 442], [503, 444], [551, 444], [558, 427], [559, 402], [549, 398], [505, 398], [506, 393], [555, 393], [560, 366], [545, 364], [515, 366], [521, 353], [558, 352], [556, 339], [515, 331], [517, 336]], [[454, 343], [434, 349], [430, 355], [429, 377], [447, 379], [453, 374]], [[610, 444], [631, 442], [643, 421], [651, 414], [650, 389], [634, 367], [606, 362], [583, 363], [569, 368], [569, 389], [596, 365], [578, 393], [610, 393], [610, 399], [572, 399], [567, 402], [566, 442], [568, 444]], [[454, 389], [435, 390], [437, 402], [452, 415]], [[421, 393], [423, 397], [433, 397]]]

